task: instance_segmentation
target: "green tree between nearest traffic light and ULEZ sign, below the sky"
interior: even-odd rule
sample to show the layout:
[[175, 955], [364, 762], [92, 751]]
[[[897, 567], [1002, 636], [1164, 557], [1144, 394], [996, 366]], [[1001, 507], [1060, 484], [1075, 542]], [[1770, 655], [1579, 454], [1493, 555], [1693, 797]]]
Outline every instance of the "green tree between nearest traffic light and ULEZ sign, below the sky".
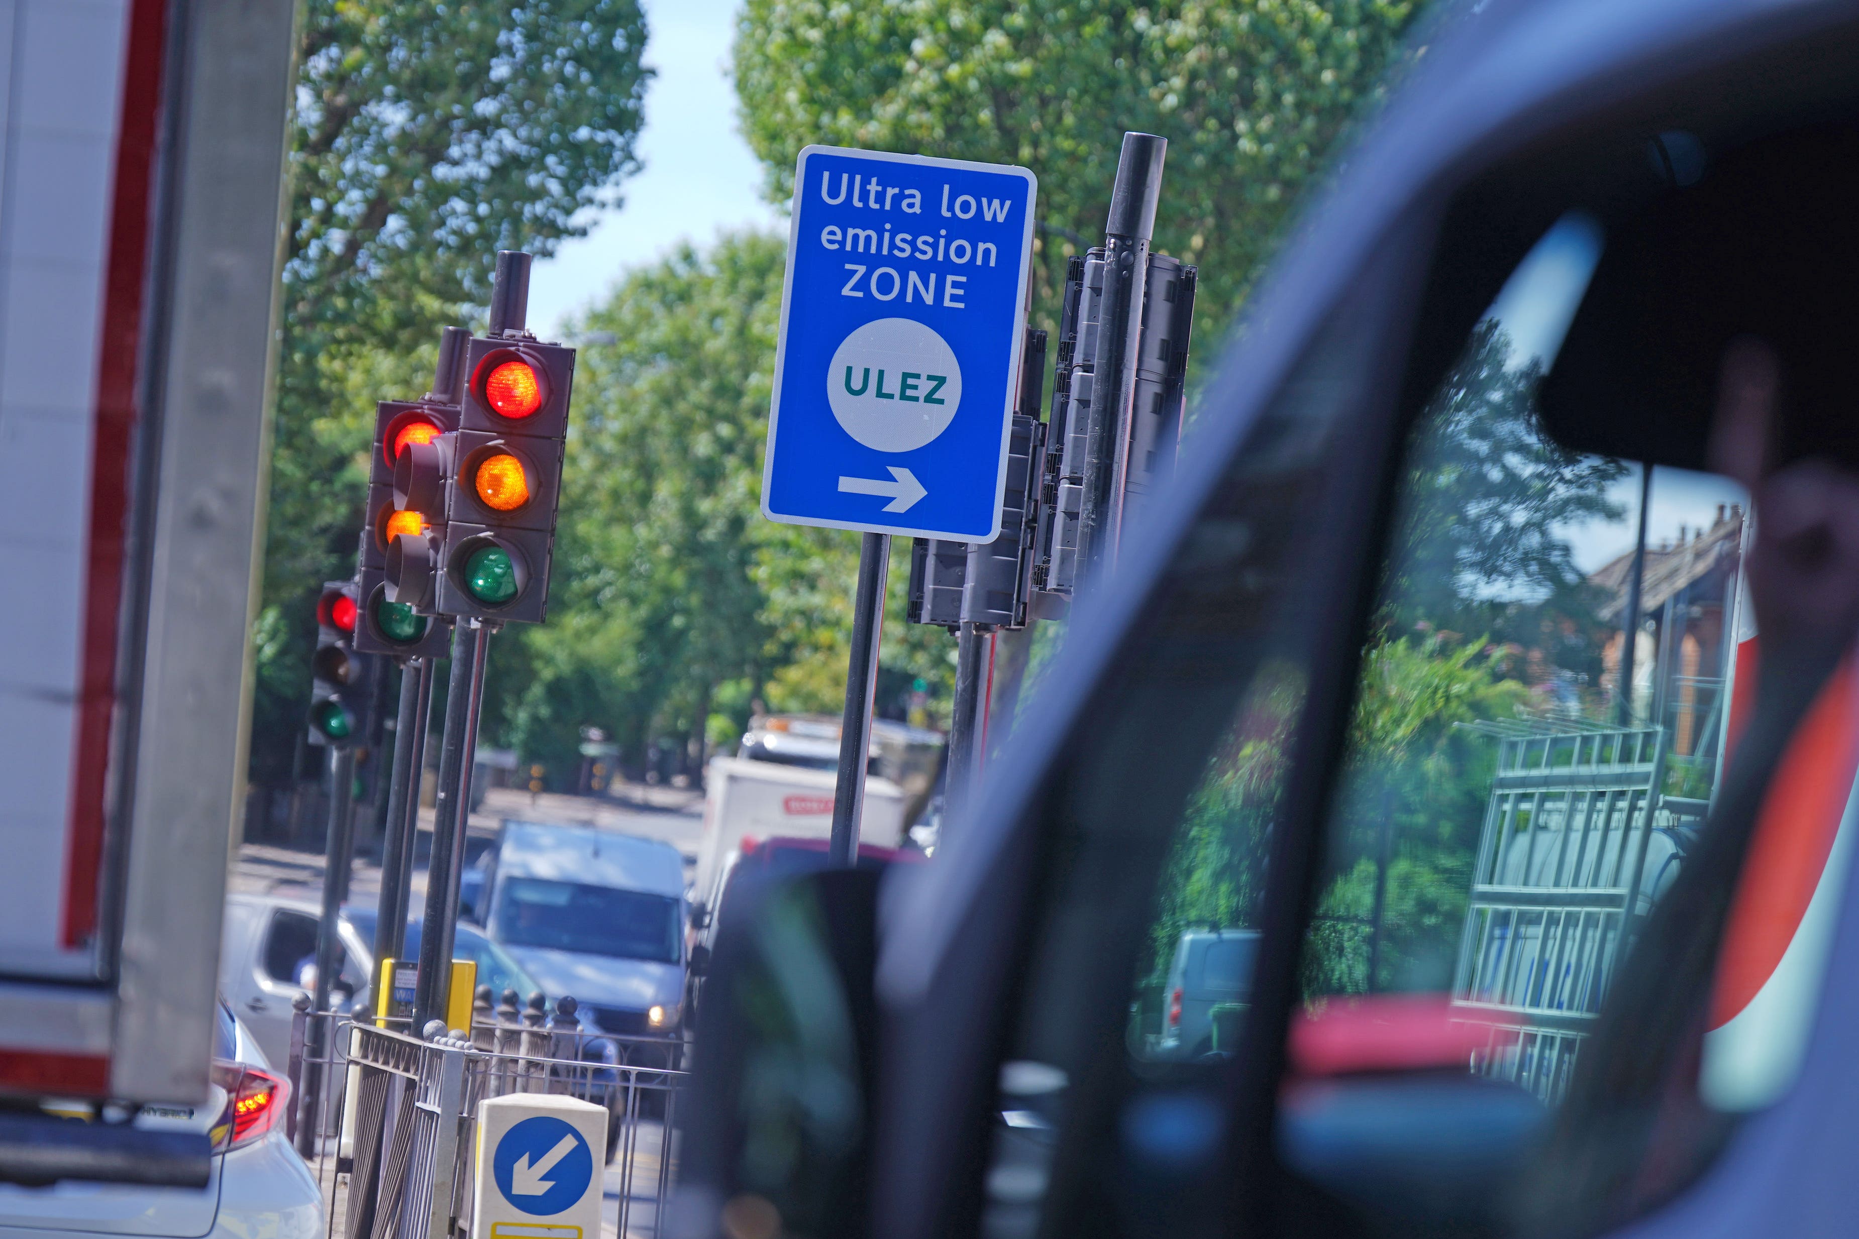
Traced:
[[[757, 698], [838, 711], [859, 539], [760, 515], [784, 264], [758, 232], [686, 245], [580, 323], [548, 624], [500, 646], [487, 687], [526, 758], [573, 769], [582, 724], [632, 752], [725, 741]], [[946, 697], [954, 643], [903, 624], [905, 567], [883, 665]]]

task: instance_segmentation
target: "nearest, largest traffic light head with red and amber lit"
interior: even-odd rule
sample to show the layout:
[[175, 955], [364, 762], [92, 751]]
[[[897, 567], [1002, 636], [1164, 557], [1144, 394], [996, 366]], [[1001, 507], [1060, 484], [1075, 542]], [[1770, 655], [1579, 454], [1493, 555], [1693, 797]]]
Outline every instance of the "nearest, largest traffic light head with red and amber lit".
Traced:
[[465, 351], [459, 429], [413, 448], [396, 474], [402, 507], [428, 502], [444, 479], [446, 528], [429, 563], [400, 539], [400, 568], [437, 578], [441, 615], [541, 622], [561, 500], [561, 455], [574, 349], [478, 336]]

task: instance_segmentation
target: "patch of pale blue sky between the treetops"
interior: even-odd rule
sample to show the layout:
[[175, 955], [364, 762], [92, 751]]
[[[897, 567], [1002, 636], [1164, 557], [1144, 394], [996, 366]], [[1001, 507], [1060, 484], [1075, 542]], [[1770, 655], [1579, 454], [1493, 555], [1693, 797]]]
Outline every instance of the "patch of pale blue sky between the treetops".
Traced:
[[762, 167], [736, 130], [729, 45], [738, 0], [645, 0], [645, 63], [658, 71], [645, 95], [643, 171], [621, 186], [625, 202], [593, 232], [567, 241], [530, 275], [530, 327], [561, 321], [606, 295], [628, 269], [679, 241], [706, 243], [721, 228], [784, 227], [762, 201]]

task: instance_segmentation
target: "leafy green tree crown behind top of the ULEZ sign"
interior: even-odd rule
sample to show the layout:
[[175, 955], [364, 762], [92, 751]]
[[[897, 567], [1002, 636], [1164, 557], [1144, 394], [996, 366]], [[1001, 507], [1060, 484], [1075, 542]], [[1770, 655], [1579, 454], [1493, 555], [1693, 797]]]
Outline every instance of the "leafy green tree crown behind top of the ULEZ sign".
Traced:
[[1169, 139], [1156, 249], [1201, 266], [1203, 346], [1376, 93], [1411, 0], [747, 0], [744, 132], [786, 201], [807, 143], [1039, 176], [1035, 314], [1095, 245], [1125, 130]]

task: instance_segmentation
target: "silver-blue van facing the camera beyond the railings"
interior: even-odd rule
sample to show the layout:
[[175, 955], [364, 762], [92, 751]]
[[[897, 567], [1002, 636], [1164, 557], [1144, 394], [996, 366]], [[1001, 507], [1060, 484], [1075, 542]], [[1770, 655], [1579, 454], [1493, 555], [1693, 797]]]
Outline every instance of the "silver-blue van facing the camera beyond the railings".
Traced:
[[480, 864], [480, 923], [545, 992], [573, 994], [606, 1033], [680, 1038], [686, 905], [675, 847], [509, 821]]

